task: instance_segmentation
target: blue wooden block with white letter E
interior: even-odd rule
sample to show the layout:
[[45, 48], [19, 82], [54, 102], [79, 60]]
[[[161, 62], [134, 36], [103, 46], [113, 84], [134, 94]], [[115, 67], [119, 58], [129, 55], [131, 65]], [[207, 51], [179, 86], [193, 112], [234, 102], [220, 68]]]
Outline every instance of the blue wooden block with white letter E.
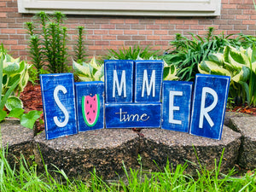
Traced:
[[163, 82], [162, 129], [189, 132], [192, 89], [192, 82]]

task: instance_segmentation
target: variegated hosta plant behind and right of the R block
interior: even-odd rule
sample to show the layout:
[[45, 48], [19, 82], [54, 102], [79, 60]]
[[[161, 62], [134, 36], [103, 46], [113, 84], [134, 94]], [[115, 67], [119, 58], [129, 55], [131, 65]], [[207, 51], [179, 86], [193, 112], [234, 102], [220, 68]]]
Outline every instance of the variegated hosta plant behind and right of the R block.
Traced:
[[208, 56], [198, 65], [200, 73], [230, 76], [230, 97], [236, 104], [256, 106], [256, 49], [226, 46], [223, 53]]

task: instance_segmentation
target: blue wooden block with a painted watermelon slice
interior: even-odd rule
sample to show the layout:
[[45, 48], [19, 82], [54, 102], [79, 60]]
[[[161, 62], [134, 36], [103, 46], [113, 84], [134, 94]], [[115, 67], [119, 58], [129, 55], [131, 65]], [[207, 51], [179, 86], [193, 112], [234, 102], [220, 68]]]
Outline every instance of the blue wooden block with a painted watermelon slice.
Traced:
[[75, 83], [79, 131], [104, 128], [104, 83]]

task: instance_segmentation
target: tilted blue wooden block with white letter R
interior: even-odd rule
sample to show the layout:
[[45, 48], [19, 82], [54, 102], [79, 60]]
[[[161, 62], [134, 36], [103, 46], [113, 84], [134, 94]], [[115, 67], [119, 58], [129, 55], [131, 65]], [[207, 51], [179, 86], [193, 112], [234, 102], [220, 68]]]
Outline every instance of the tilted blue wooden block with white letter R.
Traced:
[[196, 74], [189, 133], [221, 139], [230, 77]]

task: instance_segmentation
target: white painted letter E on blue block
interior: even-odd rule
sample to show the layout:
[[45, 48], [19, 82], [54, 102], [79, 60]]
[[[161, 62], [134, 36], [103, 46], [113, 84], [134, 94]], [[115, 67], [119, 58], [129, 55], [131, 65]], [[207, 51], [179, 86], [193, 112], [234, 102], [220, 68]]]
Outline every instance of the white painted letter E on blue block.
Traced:
[[169, 92], [169, 123], [171, 124], [177, 124], [181, 125], [182, 121], [181, 120], [175, 120], [173, 119], [173, 111], [179, 111], [178, 106], [174, 106], [174, 96], [183, 96], [182, 91], [170, 91]]

